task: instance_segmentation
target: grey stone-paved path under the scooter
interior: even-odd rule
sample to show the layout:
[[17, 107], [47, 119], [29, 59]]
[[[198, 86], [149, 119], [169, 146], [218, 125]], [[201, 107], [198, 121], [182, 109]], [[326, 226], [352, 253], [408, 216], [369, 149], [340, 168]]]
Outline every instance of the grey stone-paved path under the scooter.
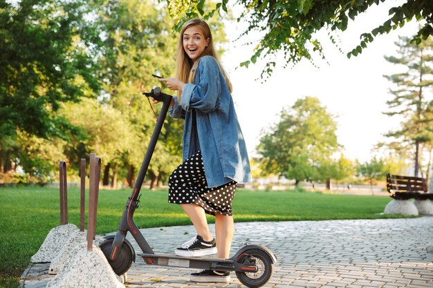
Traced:
[[[214, 229], [211, 225], [211, 229]], [[329, 220], [236, 223], [232, 254], [261, 244], [277, 255], [273, 278], [264, 287], [433, 287], [433, 217], [388, 220]], [[141, 229], [156, 253], [173, 253], [194, 236], [194, 227]], [[131, 238], [129, 238], [131, 240]], [[135, 242], [136, 253], [140, 250]], [[30, 265], [21, 286], [45, 287], [49, 264]], [[243, 287], [189, 281], [192, 269], [147, 266], [137, 258], [126, 287]]]

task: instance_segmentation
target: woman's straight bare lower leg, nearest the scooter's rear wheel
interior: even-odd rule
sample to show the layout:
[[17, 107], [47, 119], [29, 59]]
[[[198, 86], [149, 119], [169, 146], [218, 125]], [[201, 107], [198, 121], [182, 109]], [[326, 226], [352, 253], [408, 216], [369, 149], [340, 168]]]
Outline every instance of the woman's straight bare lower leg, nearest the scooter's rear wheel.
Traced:
[[217, 258], [228, 259], [230, 257], [230, 247], [232, 246], [234, 233], [233, 216], [215, 214], [215, 234]]

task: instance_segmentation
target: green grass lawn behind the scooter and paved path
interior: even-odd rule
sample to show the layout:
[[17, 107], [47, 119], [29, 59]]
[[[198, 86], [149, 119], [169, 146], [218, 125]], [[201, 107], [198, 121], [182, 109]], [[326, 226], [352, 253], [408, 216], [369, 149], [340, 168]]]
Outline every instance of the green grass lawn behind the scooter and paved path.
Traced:
[[[96, 233], [117, 230], [129, 195], [130, 189], [100, 190]], [[181, 207], [167, 204], [167, 190], [142, 189], [140, 200], [140, 209], [134, 214], [140, 228], [190, 224]], [[380, 196], [239, 189], [233, 212], [235, 222], [396, 218], [380, 214], [390, 200]], [[213, 222], [214, 218], [208, 220]], [[68, 191], [68, 222], [80, 224], [78, 189]], [[58, 189], [0, 189], [0, 287], [9, 287], [6, 281], [21, 276], [50, 229], [59, 224]]]

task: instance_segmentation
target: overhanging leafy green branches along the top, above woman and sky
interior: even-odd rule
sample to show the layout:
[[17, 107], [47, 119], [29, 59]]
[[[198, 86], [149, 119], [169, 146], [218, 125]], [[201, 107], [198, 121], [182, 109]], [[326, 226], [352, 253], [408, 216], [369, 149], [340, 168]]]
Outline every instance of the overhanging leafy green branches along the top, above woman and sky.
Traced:
[[[331, 30], [329, 33], [331, 41], [335, 43], [333, 34], [347, 29], [349, 19], [356, 17], [374, 4], [383, 4], [385, 0], [299, 0], [299, 1], [252, 1], [239, 0], [243, 6], [243, 13], [240, 19], [246, 19], [248, 27], [241, 36], [248, 35], [252, 31], [261, 32], [261, 39], [255, 54], [250, 60], [245, 61], [241, 66], [248, 66], [255, 63], [259, 57], [276, 55], [283, 52], [287, 64], [296, 64], [301, 59], [312, 59], [312, 53], [318, 53], [324, 58], [322, 44], [317, 39], [316, 33], [320, 30]], [[221, 10], [228, 10], [228, 0], [219, 1], [214, 9], [206, 10], [203, 7], [204, 0], [167, 0], [172, 17], [176, 19], [179, 26], [192, 17], [210, 17]], [[360, 44], [347, 54], [356, 56], [367, 48], [367, 45], [374, 41], [378, 35], [389, 33], [391, 30], [405, 26], [405, 23], [413, 18], [416, 21], [424, 20], [418, 33], [412, 39], [415, 44], [421, 43], [433, 35], [433, 5], [430, 0], [408, 0], [400, 6], [389, 9], [389, 18], [382, 25], [371, 31], [360, 35]], [[268, 61], [263, 75], [270, 76], [275, 67], [275, 61]]]

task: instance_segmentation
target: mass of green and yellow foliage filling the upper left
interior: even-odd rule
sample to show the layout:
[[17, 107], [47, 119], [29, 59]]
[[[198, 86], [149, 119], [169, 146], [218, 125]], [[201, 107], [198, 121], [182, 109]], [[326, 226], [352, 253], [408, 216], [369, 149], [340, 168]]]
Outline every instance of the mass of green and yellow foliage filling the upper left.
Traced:
[[[159, 83], [151, 73], [169, 77], [176, 66], [166, 8], [139, 0], [16, 2], [0, 9], [0, 171], [13, 160], [30, 180], [45, 181], [53, 162], [67, 157], [74, 173], [89, 150], [120, 171], [139, 166], [136, 151], [145, 151], [154, 126], [142, 92]], [[179, 131], [172, 126], [156, 153], [178, 155]]]

